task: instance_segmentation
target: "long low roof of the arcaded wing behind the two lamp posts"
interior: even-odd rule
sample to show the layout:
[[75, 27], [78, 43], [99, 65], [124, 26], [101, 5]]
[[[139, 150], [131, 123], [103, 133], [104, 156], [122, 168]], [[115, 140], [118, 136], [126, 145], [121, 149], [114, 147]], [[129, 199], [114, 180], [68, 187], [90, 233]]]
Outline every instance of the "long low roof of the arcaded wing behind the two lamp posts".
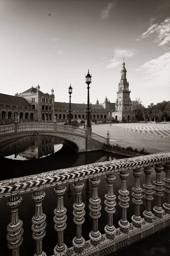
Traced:
[[[69, 110], [69, 103], [67, 102], [54, 102], [54, 108], [55, 109], [65, 109]], [[87, 109], [87, 104], [80, 104], [80, 103], [71, 103], [71, 109]], [[102, 109], [105, 110], [105, 108], [102, 105], [99, 104], [92, 104], [91, 109]]]

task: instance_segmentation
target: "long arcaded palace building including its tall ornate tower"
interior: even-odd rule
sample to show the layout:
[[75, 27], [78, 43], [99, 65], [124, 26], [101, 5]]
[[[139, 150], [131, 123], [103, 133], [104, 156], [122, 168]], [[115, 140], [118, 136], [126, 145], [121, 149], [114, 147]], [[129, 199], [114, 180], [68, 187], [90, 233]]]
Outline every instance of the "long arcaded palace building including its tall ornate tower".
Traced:
[[[103, 119], [116, 119], [119, 121], [135, 120], [135, 113], [132, 112], [129, 83], [126, 79], [125, 62], [121, 70], [119, 91], [117, 92], [116, 103], [105, 98], [102, 104], [97, 99], [96, 104], [91, 105], [91, 119], [103, 121]], [[18, 122], [53, 122], [56, 116], [57, 122], [68, 120], [69, 103], [55, 102], [54, 90], [51, 94], [40, 91], [37, 87], [31, 87], [23, 93], [15, 96], [0, 93], [0, 124], [11, 124], [14, 122], [14, 115], [17, 114]], [[71, 119], [86, 119], [87, 105], [71, 103]]]

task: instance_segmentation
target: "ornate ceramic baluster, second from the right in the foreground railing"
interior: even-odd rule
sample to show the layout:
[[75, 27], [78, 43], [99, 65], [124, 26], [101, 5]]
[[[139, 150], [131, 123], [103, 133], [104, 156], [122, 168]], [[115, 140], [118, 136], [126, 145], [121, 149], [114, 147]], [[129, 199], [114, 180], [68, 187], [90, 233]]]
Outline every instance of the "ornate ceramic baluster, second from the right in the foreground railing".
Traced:
[[153, 187], [155, 189], [154, 194], [156, 195], [156, 206], [153, 207], [153, 211], [156, 217], [161, 218], [164, 210], [161, 207], [161, 196], [163, 196], [162, 191], [163, 189], [163, 182], [161, 181], [161, 172], [164, 169], [162, 164], [156, 164], [154, 166], [154, 169], [156, 171], [156, 180], [153, 181], [155, 184]]

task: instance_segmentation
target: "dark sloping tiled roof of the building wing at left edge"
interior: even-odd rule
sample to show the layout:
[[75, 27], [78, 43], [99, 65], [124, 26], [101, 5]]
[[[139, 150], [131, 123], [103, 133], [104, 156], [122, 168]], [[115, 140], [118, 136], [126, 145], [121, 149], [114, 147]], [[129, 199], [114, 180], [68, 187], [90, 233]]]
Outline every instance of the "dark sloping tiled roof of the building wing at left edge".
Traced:
[[26, 99], [19, 96], [12, 96], [8, 94], [0, 93], [0, 102], [5, 102], [8, 104], [20, 104], [20, 105], [30, 105]]

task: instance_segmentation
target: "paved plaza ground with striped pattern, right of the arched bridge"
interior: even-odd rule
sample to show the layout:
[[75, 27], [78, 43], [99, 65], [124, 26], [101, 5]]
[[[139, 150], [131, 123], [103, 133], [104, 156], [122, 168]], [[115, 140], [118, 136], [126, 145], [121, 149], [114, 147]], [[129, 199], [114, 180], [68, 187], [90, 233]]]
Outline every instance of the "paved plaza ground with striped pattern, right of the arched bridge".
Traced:
[[107, 137], [122, 147], [144, 148], [150, 153], [170, 152], [170, 124], [129, 123], [92, 125], [92, 132]]

